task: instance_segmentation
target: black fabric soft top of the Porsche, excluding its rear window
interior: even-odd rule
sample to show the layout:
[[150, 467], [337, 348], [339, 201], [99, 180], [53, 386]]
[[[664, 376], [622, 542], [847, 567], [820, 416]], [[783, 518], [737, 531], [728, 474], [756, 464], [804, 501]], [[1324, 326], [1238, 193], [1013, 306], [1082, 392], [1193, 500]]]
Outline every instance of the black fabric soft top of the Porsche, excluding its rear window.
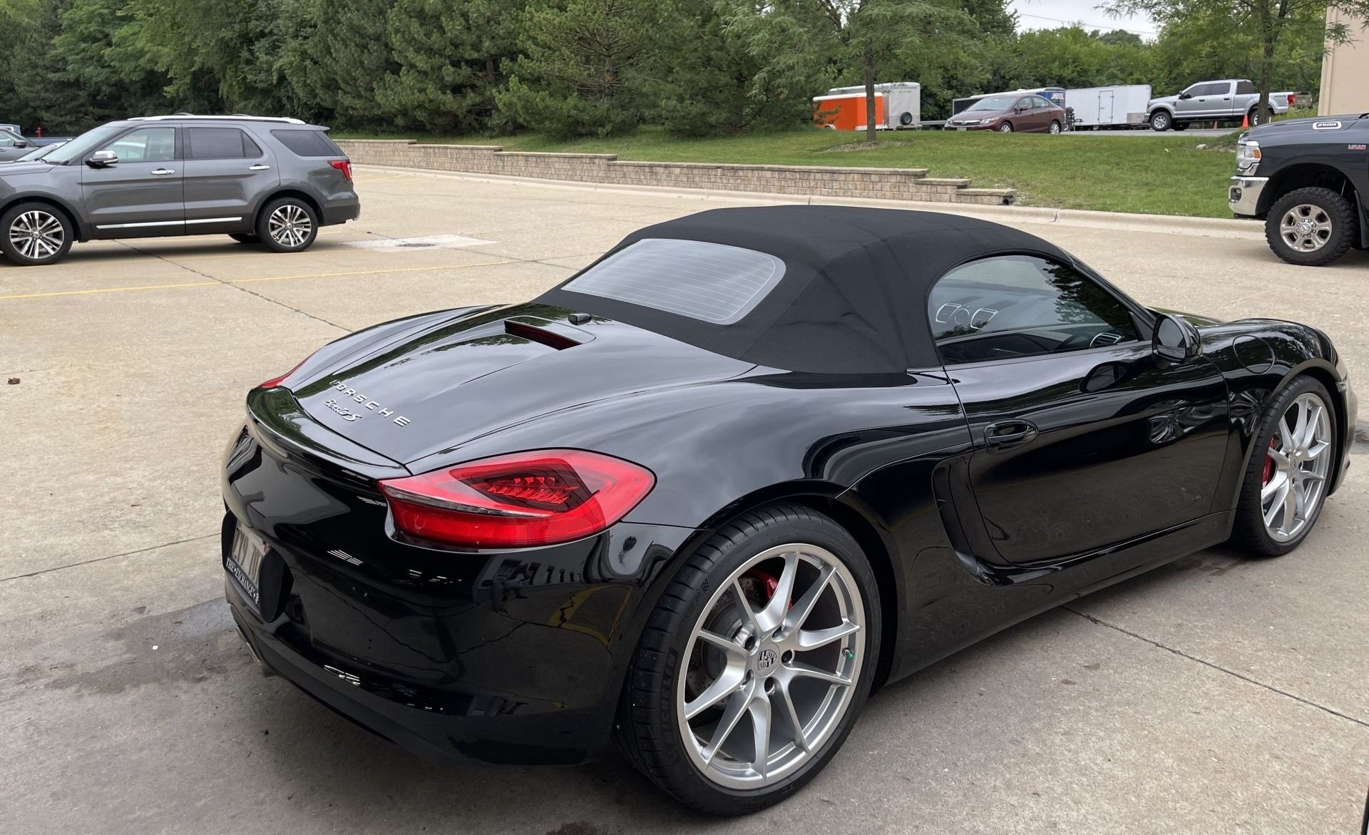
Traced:
[[927, 296], [951, 267], [1008, 252], [1069, 263], [1069, 256], [1054, 245], [998, 223], [841, 205], [711, 209], [639, 229], [611, 253], [648, 238], [765, 252], [784, 261], [784, 275], [732, 324], [575, 293], [564, 283], [537, 301], [606, 316], [772, 368], [876, 374], [941, 364], [928, 327]]

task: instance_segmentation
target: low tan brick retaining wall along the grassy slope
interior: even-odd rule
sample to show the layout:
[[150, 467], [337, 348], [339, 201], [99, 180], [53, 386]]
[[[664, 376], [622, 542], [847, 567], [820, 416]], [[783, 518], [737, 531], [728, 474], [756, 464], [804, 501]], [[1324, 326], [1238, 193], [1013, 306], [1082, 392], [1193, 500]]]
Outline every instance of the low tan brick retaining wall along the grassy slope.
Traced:
[[821, 197], [935, 200], [1008, 205], [1013, 189], [972, 189], [968, 179], [927, 177], [927, 168], [638, 163], [613, 153], [541, 153], [498, 145], [420, 145], [412, 140], [338, 140], [357, 164], [571, 179], [622, 186], [768, 192]]

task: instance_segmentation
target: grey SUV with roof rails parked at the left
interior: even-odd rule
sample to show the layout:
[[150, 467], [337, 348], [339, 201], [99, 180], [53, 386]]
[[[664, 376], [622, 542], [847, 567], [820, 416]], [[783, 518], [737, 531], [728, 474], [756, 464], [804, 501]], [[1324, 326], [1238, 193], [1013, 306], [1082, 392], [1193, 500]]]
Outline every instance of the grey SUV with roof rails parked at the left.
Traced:
[[352, 163], [298, 119], [125, 119], [0, 166], [0, 252], [25, 266], [57, 261], [73, 241], [186, 234], [301, 252], [360, 214]]

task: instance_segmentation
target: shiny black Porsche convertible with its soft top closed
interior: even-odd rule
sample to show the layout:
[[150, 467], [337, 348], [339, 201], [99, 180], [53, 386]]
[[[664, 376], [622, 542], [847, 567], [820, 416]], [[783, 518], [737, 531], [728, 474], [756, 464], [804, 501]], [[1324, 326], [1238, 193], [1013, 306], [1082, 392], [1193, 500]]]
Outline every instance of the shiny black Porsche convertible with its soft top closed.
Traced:
[[1013, 229], [715, 209], [253, 389], [227, 598], [270, 669], [407, 749], [616, 736], [743, 813], [887, 682], [1210, 545], [1292, 550], [1355, 413], [1318, 330], [1147, 309]]

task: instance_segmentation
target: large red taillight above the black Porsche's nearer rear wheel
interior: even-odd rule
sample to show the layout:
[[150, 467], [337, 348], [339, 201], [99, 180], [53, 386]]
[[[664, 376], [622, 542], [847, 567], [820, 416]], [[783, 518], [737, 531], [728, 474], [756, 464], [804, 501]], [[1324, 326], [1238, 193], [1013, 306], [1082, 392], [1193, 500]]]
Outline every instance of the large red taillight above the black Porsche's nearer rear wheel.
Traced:
[[622, 459], [541, 449], [386, 479], [394, 526], [463, 548], [554, 545], [597, 534], [637, 506], [656, 476]]

